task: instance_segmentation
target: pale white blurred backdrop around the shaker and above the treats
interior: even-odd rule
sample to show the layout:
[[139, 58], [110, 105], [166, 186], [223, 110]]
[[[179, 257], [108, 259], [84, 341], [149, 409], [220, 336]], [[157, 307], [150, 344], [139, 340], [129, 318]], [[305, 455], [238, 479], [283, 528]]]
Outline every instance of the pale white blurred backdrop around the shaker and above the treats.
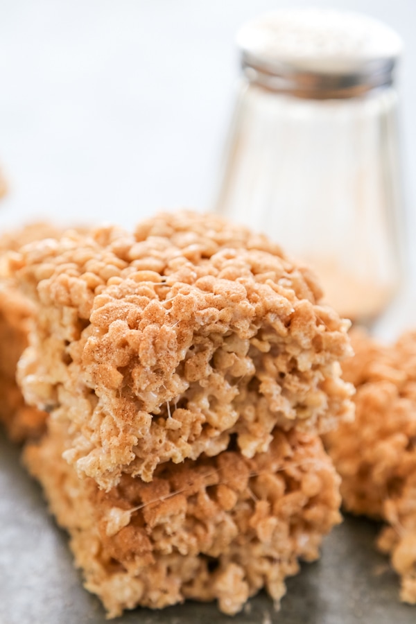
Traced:
[[[416, 1], [302, 5], [361, 11], [404, 39], [398, 86], [414, 241]], [[282, 6], [290, 1], [0, 0], [0, 163], [10, 184], [0, 231], [37, 218], [132, 225], [162, 207], [209, 208], [239, 76], [236, 29]]]

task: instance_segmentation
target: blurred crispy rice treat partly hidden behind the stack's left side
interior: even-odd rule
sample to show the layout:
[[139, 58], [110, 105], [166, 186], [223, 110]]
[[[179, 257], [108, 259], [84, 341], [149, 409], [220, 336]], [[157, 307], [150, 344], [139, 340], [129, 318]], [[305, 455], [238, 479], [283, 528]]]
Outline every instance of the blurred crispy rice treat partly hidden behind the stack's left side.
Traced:
[[46, 413], [27, 406], [16, 383], [19, 357], [28, 346], [28, 330], [35, 304], [17, 289], [3, 266], [6, 254], [21, 245], [58, 236], [55, 228], [35, 223], [0, 236], [0, 422], [16, 442], [37, 436], [44, 428]]

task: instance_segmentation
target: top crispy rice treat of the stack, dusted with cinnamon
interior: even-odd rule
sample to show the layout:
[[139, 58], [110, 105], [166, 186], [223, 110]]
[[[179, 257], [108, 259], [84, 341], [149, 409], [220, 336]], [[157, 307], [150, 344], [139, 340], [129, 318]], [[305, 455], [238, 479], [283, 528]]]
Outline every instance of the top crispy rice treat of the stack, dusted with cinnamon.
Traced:
[[189, 212], [128, 234], [71, 232], [23, 248], [15, 278], [38, 306], [19, 365], [28, 404], [69, 421], [64, 456], [110, 489], [123, 472], [351, 415], [347, 329], [309, 270], [264, 236]]

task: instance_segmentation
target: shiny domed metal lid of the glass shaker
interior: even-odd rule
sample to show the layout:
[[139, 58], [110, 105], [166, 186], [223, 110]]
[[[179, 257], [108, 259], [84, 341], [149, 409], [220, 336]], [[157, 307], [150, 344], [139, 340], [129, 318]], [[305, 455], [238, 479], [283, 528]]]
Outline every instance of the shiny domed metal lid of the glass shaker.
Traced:
[[353, 12], [282, 9], [245, 24], [237, 35], [243, 71], [273, 91], [346, 98], [392, 84], [401, 38]]

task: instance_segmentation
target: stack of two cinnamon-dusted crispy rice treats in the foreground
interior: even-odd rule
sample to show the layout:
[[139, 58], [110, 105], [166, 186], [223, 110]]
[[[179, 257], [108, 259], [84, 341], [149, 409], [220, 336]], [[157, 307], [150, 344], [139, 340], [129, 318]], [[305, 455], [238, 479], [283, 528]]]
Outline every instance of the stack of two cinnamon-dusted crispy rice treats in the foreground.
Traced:
[[352, 414], [348, 323], [309, 271], [188, 212], [26, 245], [9, 270], [36, 309], [19, 381], [50, 413], [26, 462], [86, 587], [110, 616], [279, 600], [339, 521], [318, 434]]

